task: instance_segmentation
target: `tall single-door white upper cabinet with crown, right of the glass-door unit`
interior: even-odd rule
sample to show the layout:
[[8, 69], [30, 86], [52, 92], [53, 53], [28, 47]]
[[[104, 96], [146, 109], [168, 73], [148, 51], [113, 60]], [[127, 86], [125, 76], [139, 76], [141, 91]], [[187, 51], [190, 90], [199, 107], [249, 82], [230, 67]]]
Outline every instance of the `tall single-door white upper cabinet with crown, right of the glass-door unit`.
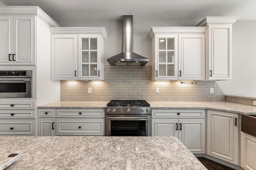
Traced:
[[206, 80], [232, 79], [232, 24], [239, 17], [206, 17]]

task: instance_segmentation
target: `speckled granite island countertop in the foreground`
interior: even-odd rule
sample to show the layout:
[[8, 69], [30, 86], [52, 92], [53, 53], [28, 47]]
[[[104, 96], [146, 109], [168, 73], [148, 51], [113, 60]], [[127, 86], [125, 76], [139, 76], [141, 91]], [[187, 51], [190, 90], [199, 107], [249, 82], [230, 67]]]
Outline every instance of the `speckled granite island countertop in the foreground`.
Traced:
[[6, 170], [207, 170], [176, 137], [0, 137]]

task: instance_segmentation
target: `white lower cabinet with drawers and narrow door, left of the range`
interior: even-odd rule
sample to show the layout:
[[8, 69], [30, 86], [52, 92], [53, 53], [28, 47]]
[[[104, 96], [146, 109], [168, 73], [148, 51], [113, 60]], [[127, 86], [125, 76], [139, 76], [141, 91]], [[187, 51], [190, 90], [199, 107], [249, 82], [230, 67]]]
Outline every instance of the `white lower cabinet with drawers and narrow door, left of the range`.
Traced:
[[38, 135], [104, 136], [104, 109], [38, 109]]

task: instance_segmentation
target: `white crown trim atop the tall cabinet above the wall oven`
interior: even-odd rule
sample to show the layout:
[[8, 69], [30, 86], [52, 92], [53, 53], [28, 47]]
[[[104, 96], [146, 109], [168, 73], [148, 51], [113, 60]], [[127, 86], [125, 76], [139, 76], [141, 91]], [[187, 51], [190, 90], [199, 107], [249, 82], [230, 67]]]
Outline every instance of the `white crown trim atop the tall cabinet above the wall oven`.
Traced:
[[0, 15], [36, 15], [51, 27], [60, 27], [39, 6], [0, 6]]

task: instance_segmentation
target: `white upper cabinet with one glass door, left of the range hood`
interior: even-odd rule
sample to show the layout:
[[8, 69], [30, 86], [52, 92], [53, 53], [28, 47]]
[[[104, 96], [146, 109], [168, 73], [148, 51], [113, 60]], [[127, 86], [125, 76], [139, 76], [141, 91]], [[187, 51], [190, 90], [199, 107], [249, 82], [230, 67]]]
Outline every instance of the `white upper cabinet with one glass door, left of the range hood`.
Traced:
[[104, 80], [105, 27], [50, 28], [52, 80]]

